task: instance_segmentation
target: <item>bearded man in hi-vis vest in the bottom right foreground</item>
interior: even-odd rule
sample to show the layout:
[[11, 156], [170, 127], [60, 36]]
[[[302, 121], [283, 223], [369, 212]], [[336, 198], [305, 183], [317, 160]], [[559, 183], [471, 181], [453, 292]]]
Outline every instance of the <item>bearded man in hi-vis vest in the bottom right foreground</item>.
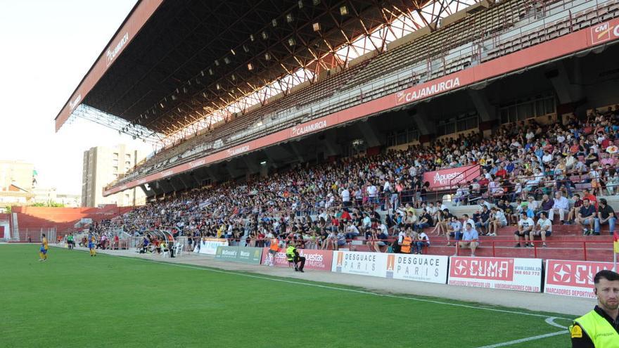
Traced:
[[619, 273], [599, 271], [594, 278], [598, 305], [570, 326], [573, 348], [619, 348]]

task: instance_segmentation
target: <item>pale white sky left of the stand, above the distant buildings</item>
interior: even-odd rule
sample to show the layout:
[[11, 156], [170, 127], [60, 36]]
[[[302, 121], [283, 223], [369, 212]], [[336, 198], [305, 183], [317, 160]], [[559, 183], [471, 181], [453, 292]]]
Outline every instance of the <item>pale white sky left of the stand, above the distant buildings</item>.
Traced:
[[53, 119], [103, 51], [134, 0], [0, 0], [0, 160], [34, 164], [39, 187], [81, 194], [92, 146], [141, 141], [79, 120]]

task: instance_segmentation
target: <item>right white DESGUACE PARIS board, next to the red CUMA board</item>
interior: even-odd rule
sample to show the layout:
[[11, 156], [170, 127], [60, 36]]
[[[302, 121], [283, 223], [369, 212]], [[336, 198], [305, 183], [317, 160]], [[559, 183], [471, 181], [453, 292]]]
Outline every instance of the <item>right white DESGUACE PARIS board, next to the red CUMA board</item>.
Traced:
[[404, 281], [447, 283], [449, 257], [440, 255], [387, 254], [387, 278]]

